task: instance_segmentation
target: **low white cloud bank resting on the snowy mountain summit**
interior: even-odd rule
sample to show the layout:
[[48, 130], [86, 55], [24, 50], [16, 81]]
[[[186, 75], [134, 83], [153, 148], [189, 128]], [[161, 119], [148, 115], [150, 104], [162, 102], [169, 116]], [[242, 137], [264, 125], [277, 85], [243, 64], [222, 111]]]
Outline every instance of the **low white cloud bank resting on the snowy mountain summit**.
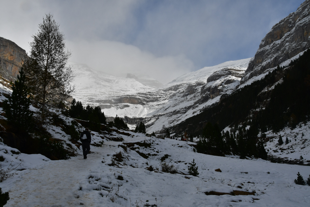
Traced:
[[86, 63], [95, 70], [116, 76], [146, 74], [165, 84], [193, 69], [193, 62], [185, 55], [156, 57], [116, 41], [67, 41], [67, 47], [72, 50], [70, 61]]

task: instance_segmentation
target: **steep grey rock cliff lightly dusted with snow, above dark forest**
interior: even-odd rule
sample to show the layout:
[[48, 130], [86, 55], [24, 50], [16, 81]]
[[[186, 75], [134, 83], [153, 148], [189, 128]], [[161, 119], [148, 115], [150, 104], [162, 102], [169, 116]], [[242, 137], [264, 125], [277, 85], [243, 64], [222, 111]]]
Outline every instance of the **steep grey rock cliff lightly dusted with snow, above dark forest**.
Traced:
[[310, 0], [303, 2], [297, 11], [291, 13], [274, 25], [262, 39], [254, 58], [241, 79], [262, 74], [269, 68], [298, 55], [310, 47]]

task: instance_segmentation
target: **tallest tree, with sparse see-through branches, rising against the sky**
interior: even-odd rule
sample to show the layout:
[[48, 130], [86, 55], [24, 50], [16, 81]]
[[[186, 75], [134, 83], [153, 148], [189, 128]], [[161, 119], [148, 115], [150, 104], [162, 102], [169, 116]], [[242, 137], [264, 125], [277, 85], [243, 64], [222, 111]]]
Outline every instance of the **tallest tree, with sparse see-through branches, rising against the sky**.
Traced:
[[39, 32], [32, 37], [29, 58], [24, 60], [23, 68], [29, 91], [42, 103], [42, 126], [46, 104], [66, 100], [74, 91], [73, 71], [66, 66], [71, 53], [65, 51], [64, 34], [51, 14], [46, 15], [39, 24]]

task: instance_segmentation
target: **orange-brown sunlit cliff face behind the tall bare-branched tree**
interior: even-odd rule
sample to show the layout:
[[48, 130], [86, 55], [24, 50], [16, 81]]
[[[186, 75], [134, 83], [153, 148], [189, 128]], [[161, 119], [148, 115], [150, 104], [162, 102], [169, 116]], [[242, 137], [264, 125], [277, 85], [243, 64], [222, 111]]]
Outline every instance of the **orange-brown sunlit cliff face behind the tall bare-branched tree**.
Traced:
[[14, 80], [19, 74], [22, 58], [26, 51], [11, 40], [0, 37], [0, 74], [9, 80]]

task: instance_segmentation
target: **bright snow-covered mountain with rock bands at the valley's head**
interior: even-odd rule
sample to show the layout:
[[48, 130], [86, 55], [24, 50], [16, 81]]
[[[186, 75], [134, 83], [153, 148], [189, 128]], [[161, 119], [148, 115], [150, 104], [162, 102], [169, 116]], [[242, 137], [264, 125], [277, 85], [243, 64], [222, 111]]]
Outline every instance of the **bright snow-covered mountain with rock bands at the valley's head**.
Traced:
[[144, 120], [148, 132], [153, 132], [162, 125], [178, 124], [219, 101], [222, 93], [231, 93], [249, 61], [250, 58], [204, 67], [157, 89], [130, 74], [119, 78], [75, 64], [77, 90], [73, 97], [84, 105], [99, 105], [106, 116], [125, 117], [129, 124]]

